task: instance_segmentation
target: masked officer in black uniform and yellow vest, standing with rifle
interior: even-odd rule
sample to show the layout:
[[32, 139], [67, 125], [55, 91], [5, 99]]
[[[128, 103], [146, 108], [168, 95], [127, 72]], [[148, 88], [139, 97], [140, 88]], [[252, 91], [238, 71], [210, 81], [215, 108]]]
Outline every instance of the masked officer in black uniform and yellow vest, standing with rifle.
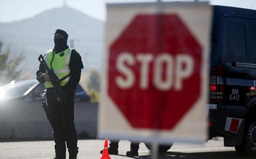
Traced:
[[56, 93], [42, 63], [36, 73], [37, 80], [44, 83], [47, 89], [47, 116], [54, 132], [55, 159], [66, 158], [66, 146], [70, 159], [76, 159], [78, 153], [77, 132], [74, 126], [74, 91], [80, 81], [83, 63], [79, 53], [67, 46], [67, 38], [66, 31], [56, 30], [54, 49], [48, 50], [44, 55], [47, 66], [61, 79], [64, 99]]

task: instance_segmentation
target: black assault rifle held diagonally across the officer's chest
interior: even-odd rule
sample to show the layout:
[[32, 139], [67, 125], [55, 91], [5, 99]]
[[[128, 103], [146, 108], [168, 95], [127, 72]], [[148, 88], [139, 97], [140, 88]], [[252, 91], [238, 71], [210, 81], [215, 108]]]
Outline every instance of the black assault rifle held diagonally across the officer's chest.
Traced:
[[38, 57], [39, 62], [45, 67], [45, 70], [47, 70], [47, 73], [49, 75], [49, 78], [51, 80], [52, 85], [54, 86], [54, 88], [56, 89], [57, 95], [59, 97], [61, 97], [62, 101], [65, 102], [65, 94], [62, 91], [61, 88], [61, 80], [59, 80], [59, 78], [56, 76], [56, 74], [54, 73], [53, 70], [51, 70], [47, 63], [44, 60], [44, 57], [42, 55], [40, 55]]

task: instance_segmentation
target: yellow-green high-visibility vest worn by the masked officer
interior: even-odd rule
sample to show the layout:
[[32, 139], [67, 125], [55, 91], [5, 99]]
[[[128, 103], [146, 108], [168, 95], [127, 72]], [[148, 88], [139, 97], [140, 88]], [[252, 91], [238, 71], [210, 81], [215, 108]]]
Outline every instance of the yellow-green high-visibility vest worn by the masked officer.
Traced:
[[[71, 57], [72, 49], [68, 48], [63, 52], [54, 53], [53, 50], [48, 50], [45, 53], [44, 60], [47, 63], [47, 66], [54, 70], [56, 76], [61, 79], [70, 73], [69, 62]], [[53, 58], [53, 60], [52, 60]], [[69, 82], [69, 78], [67, 77], [65, 80], [61, 81], [61, 86], [65, 86], [67, 82]], [[53, 88], [51, 82], [44, 83], [45, 88]]]

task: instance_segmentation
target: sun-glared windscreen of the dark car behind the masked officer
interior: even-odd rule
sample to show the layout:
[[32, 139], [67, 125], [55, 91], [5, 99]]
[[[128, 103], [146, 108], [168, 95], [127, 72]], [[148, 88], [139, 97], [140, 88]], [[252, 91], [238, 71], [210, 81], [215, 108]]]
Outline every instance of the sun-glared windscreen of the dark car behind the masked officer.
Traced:
[[23, 94], [33, 85], [34, 83], [16, 84], [11, 82], [10, 84], [6, 84], [0, 88], [0, 99], [23, 96]]

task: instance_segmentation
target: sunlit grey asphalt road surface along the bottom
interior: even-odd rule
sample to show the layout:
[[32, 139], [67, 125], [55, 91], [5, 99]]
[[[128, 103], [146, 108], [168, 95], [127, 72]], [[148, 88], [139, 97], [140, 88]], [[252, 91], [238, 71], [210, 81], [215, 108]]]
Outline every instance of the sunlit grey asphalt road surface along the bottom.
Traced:
[[[104, 140], [79, 140], [80, 158], [101, 157], [99, 150], [104, 147]], [[150, 151], [145, 147], [144, 143], [140, 144], [138, 157], [126, 157], [126, 151], [130, 149], [128, 140], [121, 140], [119, 143], [119, 154], [110, 155], [112, 159], [119, 158], [152, 158]], [[33, 141], [33, 142], [0, 142], [0, 158], [28, 158], [28, 159], [48, 159], [54, 158], [54, 142], [53, 141]], [[68, 158], [68, 157], [67, 157]], [[205, 144], [173, 144], [165, 154], [159, 154], [159, 158], [218, 158], [233, 159], [245, 158], [239, 157], [233, 147], [223, 147], [223, 140], [209, 140]], [[254, 157], [253, 157], [254, 158]]]

